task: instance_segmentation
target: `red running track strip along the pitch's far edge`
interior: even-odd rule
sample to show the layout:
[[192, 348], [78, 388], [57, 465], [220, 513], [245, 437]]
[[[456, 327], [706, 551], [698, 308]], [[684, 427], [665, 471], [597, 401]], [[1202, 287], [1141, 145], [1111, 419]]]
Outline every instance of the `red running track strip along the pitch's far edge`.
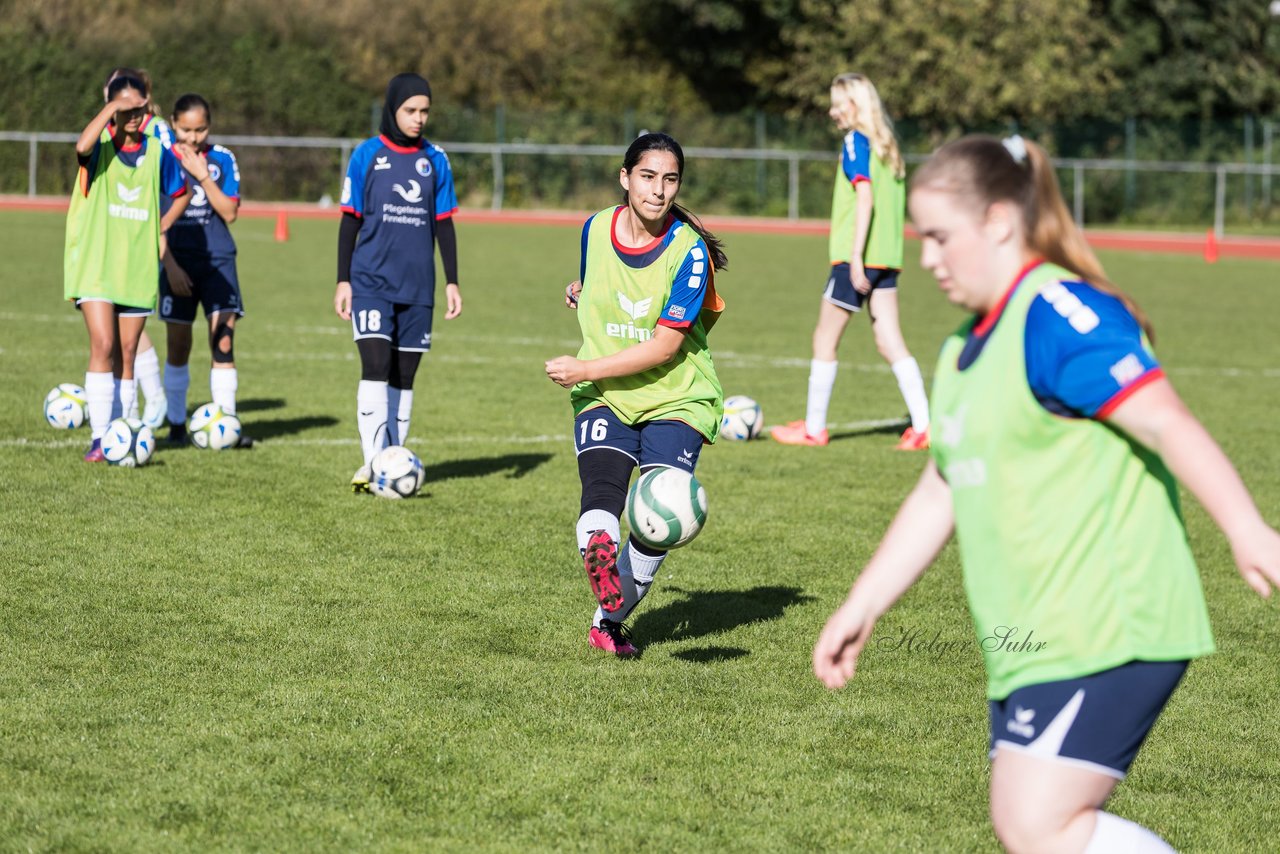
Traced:
[[[0, 210], [67, 210], [67, 200], [58, 196], [4, 196], [0, 195]], [[242, 216], [274, 218], [280, 214], [298, 219], [337, 219], [337, 207], [320, 207], [302, 202], [246, 202], [241, 207]], [[511, 223], [522, 225], [581, 225], [588, 213], [576, 211], [494, 211], [484, 209], [465, 209], [458, 211], [463, 223]], [[707, 227], [717, 232], [749, 234], [826, 234], [827, 220], [819, 219], [769, 219], [763, 216], [707, 216]], [[1164, 232], [1111, 232], [1088, 230], [1089, 243], [1094, 248], [1123, 250], [1130, 252], [1166, 252], [1178, 255], [1203, 255], [1208, 232], [1204, 234], [1164, 233]], [[915, 237], [908, 229], [908, 237]], [[1280, 260], [1280, 237], [1225, 237], [1217, 242], [1217, 252], [1222, 257], [1252, 257]]]

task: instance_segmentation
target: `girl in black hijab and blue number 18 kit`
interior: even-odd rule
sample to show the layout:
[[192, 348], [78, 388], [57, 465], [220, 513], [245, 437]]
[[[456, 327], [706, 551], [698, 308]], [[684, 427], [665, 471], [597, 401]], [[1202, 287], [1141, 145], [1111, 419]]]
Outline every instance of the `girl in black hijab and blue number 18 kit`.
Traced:
[[333, 309], [351, 321], [360, 351], [356, 417], [364, 463], [351, 479], [357, 493], [369, 492], [374, 455], [408, 438], [413, 375], [431, 348], [436, 243], [444, 319], [462, 314], [453, 229], [458, 200], [449, 159], [422, 137], [430, 110], [426, 79], [393, 77], [381, 133], [352, 152], [342, 187]]

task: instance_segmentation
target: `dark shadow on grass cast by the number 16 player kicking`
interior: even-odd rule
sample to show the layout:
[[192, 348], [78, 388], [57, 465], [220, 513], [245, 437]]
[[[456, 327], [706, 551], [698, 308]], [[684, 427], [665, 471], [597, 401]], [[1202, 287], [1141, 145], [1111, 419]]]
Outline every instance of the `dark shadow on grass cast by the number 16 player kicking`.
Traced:
[[[662, 643], [664, 640], [705, 638], [753, 622], [777, 620], [787, 608], [814, 600], [814, 597], [805, 595], [800, 588], [785, 586], [759, 586], [749, 590], [684, 590], [681, 588], [669, 588], [669, 590], [681, 594], [681, 598], [668, 602], [660, 608], [645, 611], [636, 617], [632, 631], [637, 639], [645, 643]], [[708, 647], [703, 650], [689, 650], [680, 657], [685, 661], [710, 662], [745, 654], [748, 654], [746, 650], [719, 648], [717, 652], [717, 648]]]

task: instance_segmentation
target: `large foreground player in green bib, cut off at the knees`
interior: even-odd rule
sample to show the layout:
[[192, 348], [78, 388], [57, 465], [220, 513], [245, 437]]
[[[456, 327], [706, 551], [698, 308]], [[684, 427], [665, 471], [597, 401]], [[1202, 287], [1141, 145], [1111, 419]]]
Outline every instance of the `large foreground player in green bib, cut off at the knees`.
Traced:
[[[1280, 534], [1165, 379], [1039, 147], [952, 142], [910, 204], [922, 264], [973, 318], [938, 359], [933, 458], [818, 638], [814, 672], [844, 685], [955, 531], [987, 665], [1000, 841], [1172, 850], [1102, 805], [1189, 659], [1213, 650], [1174, 478], [1263, 597], [1280, 584]], [[1005, 648], [1032, 632], [1033, 652]]]

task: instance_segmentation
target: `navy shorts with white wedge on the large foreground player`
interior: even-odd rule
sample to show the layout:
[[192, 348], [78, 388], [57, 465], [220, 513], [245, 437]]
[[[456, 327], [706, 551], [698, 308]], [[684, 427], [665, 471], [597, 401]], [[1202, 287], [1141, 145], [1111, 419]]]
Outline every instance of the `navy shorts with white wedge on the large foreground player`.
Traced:
[[1016, 750], [1123, 780], [1185, 661], [1132, 661], [991, 702], [991, 755]]

